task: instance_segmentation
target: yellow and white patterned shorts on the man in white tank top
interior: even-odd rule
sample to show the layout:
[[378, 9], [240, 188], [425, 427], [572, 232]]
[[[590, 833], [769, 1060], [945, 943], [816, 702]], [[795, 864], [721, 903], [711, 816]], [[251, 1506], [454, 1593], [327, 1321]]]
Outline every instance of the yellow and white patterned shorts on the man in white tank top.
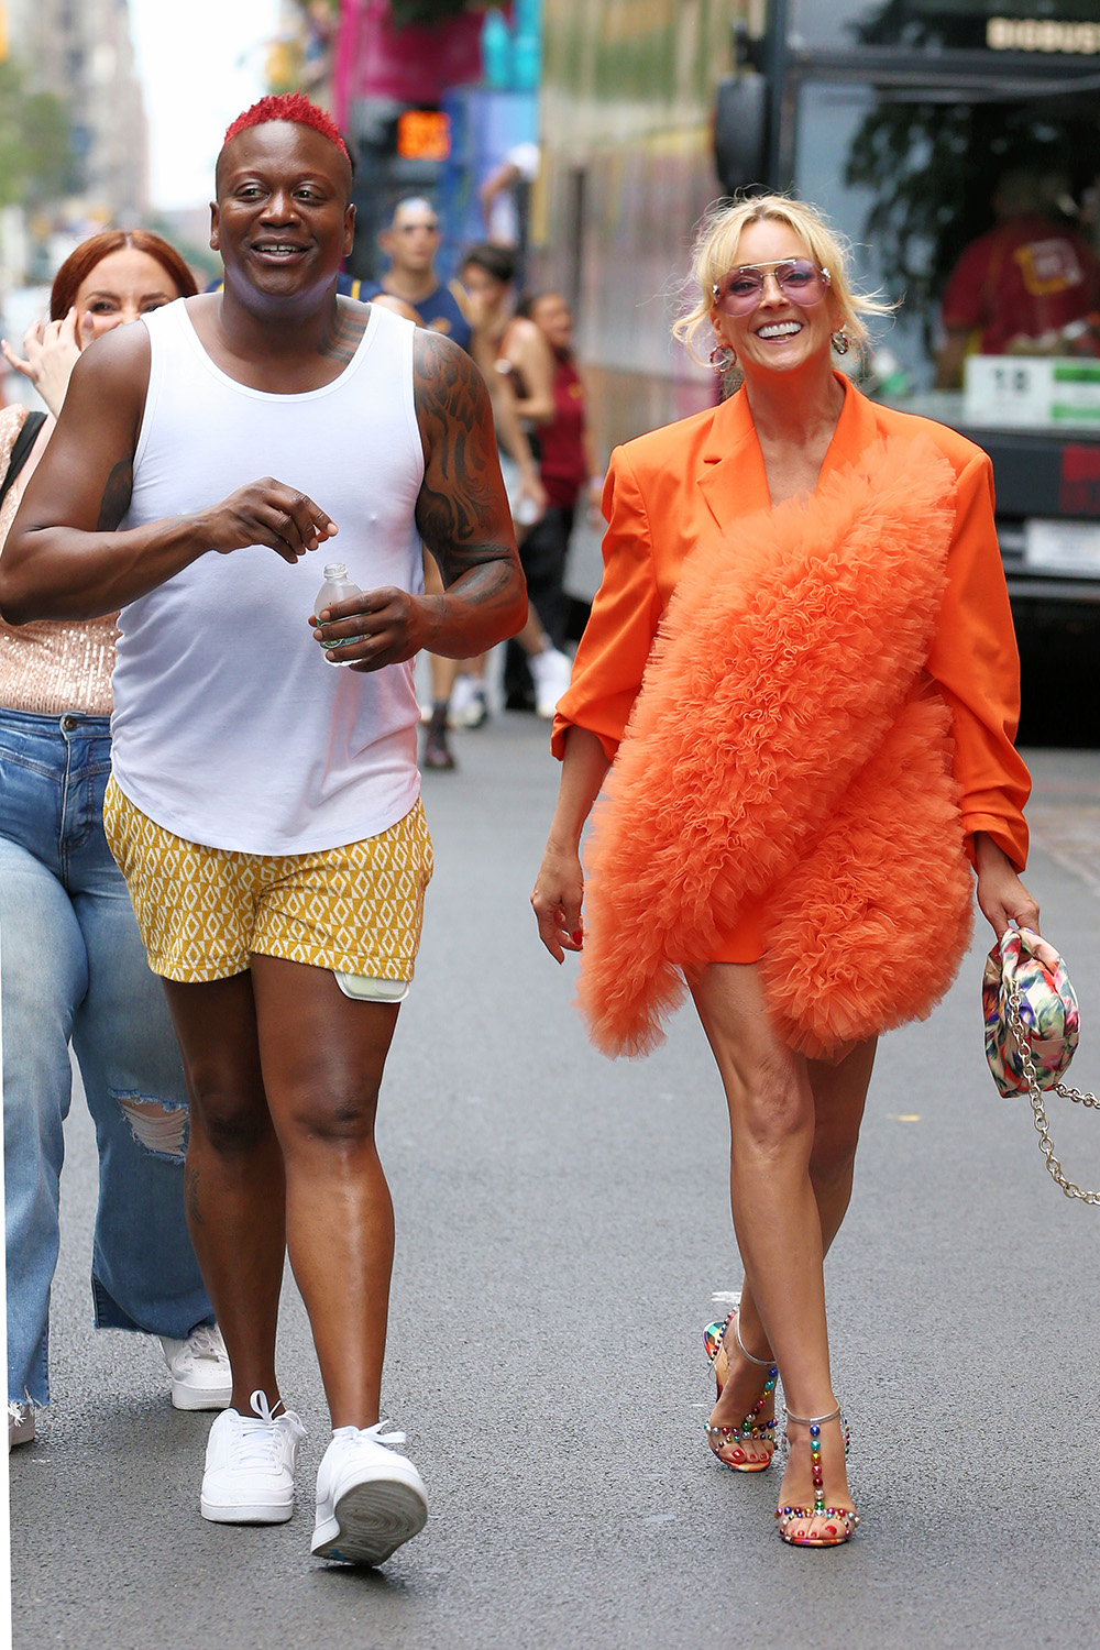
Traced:
[[411, 980], [421, 944], [432, 838], [417, 800], [378, 837], [322, 853], [231, 853], [173, 837], [114, 779], [104, 799], [153, 974], [224, 980], [249, 954], [336, 974]]

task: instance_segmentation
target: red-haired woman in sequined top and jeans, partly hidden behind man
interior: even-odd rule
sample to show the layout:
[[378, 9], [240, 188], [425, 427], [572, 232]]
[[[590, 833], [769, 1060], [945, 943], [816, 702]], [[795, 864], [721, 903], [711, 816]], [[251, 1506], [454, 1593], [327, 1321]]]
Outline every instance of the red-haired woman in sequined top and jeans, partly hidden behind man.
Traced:
[[[3, 345], [51, 417], [30, 446], [26, 408], [0, 412], [0, 544], [81, 350], [195, 290], [175, 248], [142, 229], [96, 234], [66, 259], [51, 318], [30, 328], [25, 356]], [[231, 1394], [229, 1360], [183, 1213], [188, 1110], [180, 1058], [102, 828], [114, 644], [112, 614], [18, 630], [0, 622], [10, 1444], [35, 1437], [35, 1412], [49, 1399], [69, 1043], [99, 1145], [96, 1323], [160, 1336], [176, 1407], [219, 1409]]]

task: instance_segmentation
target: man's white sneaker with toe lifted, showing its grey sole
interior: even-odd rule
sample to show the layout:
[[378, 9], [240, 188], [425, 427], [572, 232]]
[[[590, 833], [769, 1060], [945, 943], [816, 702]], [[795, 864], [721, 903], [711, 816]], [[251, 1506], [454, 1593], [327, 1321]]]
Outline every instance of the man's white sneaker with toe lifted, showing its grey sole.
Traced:
[[411, 1460], [399, 1455], [404, 1432], [338, 1427], [317, 1473], [317, 1525], [310, 1551], [345, 1564], [384, 1564], [427, 1518], [427, 1490]]

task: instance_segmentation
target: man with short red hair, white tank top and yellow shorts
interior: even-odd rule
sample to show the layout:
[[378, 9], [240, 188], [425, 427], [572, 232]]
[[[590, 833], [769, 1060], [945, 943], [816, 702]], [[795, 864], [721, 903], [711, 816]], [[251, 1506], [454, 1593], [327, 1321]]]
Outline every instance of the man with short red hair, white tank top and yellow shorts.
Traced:
[[[328, 117], [264, 99], [229, 129], [216, 193], [224, 289], [84, 351], [0, 607], [122, 609], [106, 823], [183, 1053], [188, 1221], [234, 1378], [203, 1516], [294, 1510], [303, 1429], [274, 1365], [289, 1251], [333, 1424], [312, 1546], [378, 1564], [427, 1516], [379, 1422], [393, 1204], [374, 1145], [430, 876], [412, 658], [480, 653], [526, 601], [477, 366], [336, 294], [355, 208]], [[336, 531], [361, 592], [313, 614], [312, 553]], [[442, 596], [422, 594], [421, 541]]]

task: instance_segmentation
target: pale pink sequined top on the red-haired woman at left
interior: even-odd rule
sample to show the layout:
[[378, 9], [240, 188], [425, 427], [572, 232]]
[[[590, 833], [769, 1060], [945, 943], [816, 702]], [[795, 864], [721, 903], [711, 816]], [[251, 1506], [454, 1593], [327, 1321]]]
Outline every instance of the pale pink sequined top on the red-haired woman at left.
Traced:
[[[0, 411], [0, 477], [7, 474], [25, 417], [26, 408], [21, 406]], [[0, 546], [7, 541], [33, 467], [31, 455], [0, 507]], [[117, 614], [81, 620], [45, 619], [18, 629], [0, 619], [0, 706], [40, 716], [61, 716], [64, 711], [109, 716], [119, 635], [115, 619]]]

